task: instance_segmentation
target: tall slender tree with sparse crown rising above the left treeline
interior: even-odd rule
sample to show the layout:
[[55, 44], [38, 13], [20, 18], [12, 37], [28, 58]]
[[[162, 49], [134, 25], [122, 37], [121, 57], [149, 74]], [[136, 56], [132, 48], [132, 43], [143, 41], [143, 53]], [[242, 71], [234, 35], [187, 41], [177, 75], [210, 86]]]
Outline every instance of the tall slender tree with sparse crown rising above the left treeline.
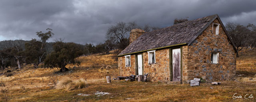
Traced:
[[44, 53], [40, 54], [39, 60], [38, 60], [38, 64], [42, 62], [42, 58], [46, 54], [46, 51], [45, 51], [46, 41], [49, 38], [52, 38], [54, 36], [54, 34], [52, 33], [52, 29], [47, 28], [46, 30], [48, 31], [46, 33], [43, 33], [42, 31], [36, 32], [36, 35], [38, 35], [38, 37], [40, 38], [40, 41], [42, 42], [41, 43], [41, 48], [40, 48], [39, 52], [42, 52], [42, 51], [44, 52]]

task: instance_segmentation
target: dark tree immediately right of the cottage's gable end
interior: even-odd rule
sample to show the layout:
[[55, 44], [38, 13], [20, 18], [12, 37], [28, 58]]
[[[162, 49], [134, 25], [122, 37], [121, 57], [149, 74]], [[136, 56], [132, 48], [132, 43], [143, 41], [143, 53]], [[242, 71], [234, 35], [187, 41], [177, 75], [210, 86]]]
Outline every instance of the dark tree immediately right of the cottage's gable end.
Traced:
[[250, 33], [250, 30], [248, 30], [245, 26], [233, 22], [228, 22], [226, 24], [226, 28], [228, 34], [236, 46], [236, 57], [239, 57], [238, 52], [244, 48], [246, 40], [248, 40], [248, 34]]

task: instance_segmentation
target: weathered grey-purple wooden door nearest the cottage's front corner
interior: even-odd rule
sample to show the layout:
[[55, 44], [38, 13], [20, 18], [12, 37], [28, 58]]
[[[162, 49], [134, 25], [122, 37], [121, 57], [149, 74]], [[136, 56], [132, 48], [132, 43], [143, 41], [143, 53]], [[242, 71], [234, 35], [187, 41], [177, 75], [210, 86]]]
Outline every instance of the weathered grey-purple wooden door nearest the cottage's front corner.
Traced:
[[180, 81], [180, 48], [172, 49], [172, 81]]

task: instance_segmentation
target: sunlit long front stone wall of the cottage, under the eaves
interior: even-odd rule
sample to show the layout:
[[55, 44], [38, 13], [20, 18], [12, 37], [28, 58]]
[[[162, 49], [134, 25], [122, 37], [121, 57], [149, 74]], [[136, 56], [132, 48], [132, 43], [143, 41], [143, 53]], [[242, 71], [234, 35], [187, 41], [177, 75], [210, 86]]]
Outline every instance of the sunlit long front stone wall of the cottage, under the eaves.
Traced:
[[[156, 63], [148, 64], [148, 52], [143, 52], [143, 74], [149, 73], [152, 82], [167, 82], [170, 80], [169, 49], [156, 50]], [[125, 67], [125, 57], [118, 57], [118, 69], [120, 76], [135, 75], [136, 63], [135, 55], [131, 55], [131, 67]]]

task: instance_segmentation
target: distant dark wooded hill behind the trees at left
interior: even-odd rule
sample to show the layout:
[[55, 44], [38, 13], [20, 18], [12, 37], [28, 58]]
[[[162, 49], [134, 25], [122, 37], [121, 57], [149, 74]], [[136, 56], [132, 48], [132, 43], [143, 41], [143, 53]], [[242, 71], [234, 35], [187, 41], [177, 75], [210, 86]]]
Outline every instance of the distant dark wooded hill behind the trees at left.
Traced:
[[[0, 41], [0, 50], [3, 50], [5, 48], [11, 48], [14, 46], [21, 46], [23, 49], [25, 49], [25, 43], [29, 42], [27, 40], [4, 40]], [[46, 42], [46, 52], [52, 52], [52, 45], [54, 42]]]

